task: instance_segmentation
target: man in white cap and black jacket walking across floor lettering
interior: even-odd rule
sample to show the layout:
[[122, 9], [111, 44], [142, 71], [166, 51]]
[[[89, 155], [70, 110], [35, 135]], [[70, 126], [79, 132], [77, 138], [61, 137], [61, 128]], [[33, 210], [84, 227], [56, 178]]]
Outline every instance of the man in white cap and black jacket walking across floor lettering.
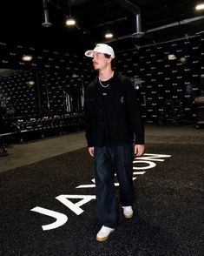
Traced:
[[89, 154], [95, 158], [98, 219], [96, 239], [104, 241], [115, 231], [115, 173], [125, 218], [133, 216], [133, 159], [144, 152], [144, 130], [135, 89], [128, 77], [113, 71], [115, 52], [108, 44], [86, 51], [98, 77], [85, 91], [85, 123]]

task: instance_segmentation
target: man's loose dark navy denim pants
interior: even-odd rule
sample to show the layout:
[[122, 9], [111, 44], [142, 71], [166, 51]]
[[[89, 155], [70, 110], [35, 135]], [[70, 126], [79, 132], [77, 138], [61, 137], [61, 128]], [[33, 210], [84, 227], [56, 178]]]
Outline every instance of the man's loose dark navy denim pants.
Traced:
[[102, 225], [115, 227], [115, 173], [123, 206], [133, 205], [133, 145], [95, 147], [97, 216]]

